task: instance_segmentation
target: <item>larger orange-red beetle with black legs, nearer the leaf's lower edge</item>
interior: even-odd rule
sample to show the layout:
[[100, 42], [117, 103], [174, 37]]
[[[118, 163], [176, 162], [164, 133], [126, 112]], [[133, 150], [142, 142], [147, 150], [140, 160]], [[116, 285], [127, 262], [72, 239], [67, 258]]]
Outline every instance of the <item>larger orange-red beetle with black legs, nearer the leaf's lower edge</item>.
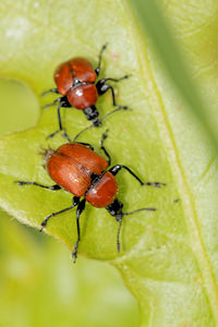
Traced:
[[[104, 146], [104, 141], [106, 137], [107, 134], [105, 133], [100, 142], [100, 148], [104, 150], [108, 160], [96, 154], [89, 144], [66, 143], [61, 145], [57, 150], [49, 148], [44, 154], [47, 171], [50, 178], [56, 182], [55, 185], [45, 186], [36, 182], [15, 181], [15, 183], [19, 183], [19, 185], [36, 185], [53, 191], [63, 189], [74, 195], [73, 205], [47, 216], [41, 222], [43, 230], [51, 217], [77, 206], [77, 240], [72, 253], [74, 262], [77, 257], [77, 246], [81, 240], [80, 216], [85, 209], [86, 201], [96, 208], [106, 208], [108, 213], [119, 222], [117, 234], [118, 252], [120, 252], [120, 229], [122, 217], [141, 210], [156, 210], [155, 208], [141, 208], [131, 213], [123, 213], [123, 204], [117, 198], [118, 183], [114, 178], [114, 175], [122, 168], [129, 171], [140, 182], [141, 185], [152, 185], [156, 187], [165, 185], [164, 183], [159, 182], [144, 183], [130, 168], [123, 165], [116, 165], [108, 169], [111, 159]], [[81, 197], [83, 197], [83, 199], [81, 199]]]

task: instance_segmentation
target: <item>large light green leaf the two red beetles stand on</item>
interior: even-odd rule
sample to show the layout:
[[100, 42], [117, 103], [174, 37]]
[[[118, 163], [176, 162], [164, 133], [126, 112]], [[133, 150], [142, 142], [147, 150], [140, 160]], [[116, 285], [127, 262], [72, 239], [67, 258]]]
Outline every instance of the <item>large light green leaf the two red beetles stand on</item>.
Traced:
[[[195, 13], [197, 9], [197, 13]], [[183, 0], [162, 4], [175, 31], [191, 73], [216, 113], [217, 3]], [[144, 180], [167, 183], [141, 187], [126, 172], [119, 174], [119, 198], [124, 210], [156, 207], [123, 219], [121, 253], [118, 225], [104, 209], [87, 206], [82, 215], [80, 254], [117, 266], [138, 299], [142, 326], [216, 326], [218, 324], [217, 162], [207, 136], [191, 118], [157, 60], [149, 39], [144, 41], [128, 3], [123, 1], [5, 1], [0, 4], [0, 71], [2, 76], [29, 85], [40, 105], [53, 97], [40, 93], [51, 86], [56, 66], [75, 56], [94, 65], [106, 41], [102, 76], [131, 78], [116, 85], [118, 102], [133, 111], [119, 112], [100, 129], [83, 135], [99, 152], [106, 147], [112, 164], [130, 166]], [[7, 28], [3, 26], [8, 26]], [[158, 22], [157, 22], [158, 26]], [[5, 45], [5, 46], [3, 46]], [[87, 55], [88, 53], [88, 55]], [[98, 101], [101, 116], [111, 110], [110, 95]], [[76, 110], [63, 110], [64, 125], [75, 135], [87, 121]], [[214, 116], [214, 120], [216, 116]], [[46, 136], [57, 129], [56, 109], [41, 110], [38, 125], [7, 136], [0, 143], [0, 204], [20, 221], [39, 227], [45, 216], [71, 205], [71, 195], [14, 180], [52, 184], [38, 155], [63, 140]], [[50, 220], [47, 232], [71, 250], [76, 240], [75, 211]], [[78, 258], [80, 259], [80, 258]]]

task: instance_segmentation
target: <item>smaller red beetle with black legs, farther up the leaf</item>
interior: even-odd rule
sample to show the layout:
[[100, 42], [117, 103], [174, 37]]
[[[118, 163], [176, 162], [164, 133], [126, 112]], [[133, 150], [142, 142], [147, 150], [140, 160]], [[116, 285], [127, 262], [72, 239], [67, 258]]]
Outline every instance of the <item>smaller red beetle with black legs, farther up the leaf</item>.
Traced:
[[[63, 130], [60, 114], [60, 109], [62, 107], [74, 107], [75, 109], [82, 110], [85, 113], [87, 120], [90, 120], [93, 122], [92, 125], [94, 126], [99, 126], [101, 124], [101, 121], [111, 113], [117, 112], [121, 109], [129, 109], [126, 106], [118, 106], [118, 108], [106, 114], [102, 119], [98, 118], [98, 110], [95, 106], [98, 96], [104, 95], [110, 89], [112, 95], [112, 104], [113, 106], [117, 106], [113, 87], [108, 84], [108, 81], [119, 82], [121, 80], [128, 78], [128, 75], [124, 75], [121, 78], [101, 78], [96, 83], [96, 78], [100, 74], [101, 56], [106, 47], [107, 46], [105, 45], [100, 50], [98, 66], [96, 70], [94, 70], [92, 63], [88, 60], [80, 57], [70, 59], [61, 63], [57, 68], [53, 76], [57, 88], [51, 88], [44, 93], [45, 95], [53, 92], [62, 95], [61, 97], [56, 99], [53, 104], [44, 107], [47, 108], [59, 102], [59, 130], [50, 134], [48, 137], [53, 137], [58, 132]], [[82, 132], [78, 135], [81, 135]], [[78, 137], [78, 135], [74, 137], [74, 141]], [[64, 132], [63, 136], [68, 141], [70, 141], [66, 132]]]

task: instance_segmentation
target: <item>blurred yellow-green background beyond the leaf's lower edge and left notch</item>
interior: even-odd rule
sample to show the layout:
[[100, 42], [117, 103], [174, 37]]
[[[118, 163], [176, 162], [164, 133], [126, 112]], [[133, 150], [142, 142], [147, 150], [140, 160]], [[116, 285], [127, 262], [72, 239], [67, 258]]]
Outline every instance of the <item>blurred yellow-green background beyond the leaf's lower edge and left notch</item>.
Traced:
[[[0, 80], [0, 136], [37, 123], [32, 90]], [[14, 110], [16, 108], [16, 111]], [[119, 272], [0, 211], [0, 327], [134, 327], [138, 306]]]

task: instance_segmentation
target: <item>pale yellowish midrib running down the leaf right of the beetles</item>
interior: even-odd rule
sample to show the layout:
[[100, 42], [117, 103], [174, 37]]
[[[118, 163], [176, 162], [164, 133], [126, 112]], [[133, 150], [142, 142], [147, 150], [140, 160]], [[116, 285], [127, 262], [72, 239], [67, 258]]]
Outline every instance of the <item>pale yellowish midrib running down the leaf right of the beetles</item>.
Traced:
[[[129, 22], [134, 22], [135, 17], [133, 16], [129, 8], [129, 4], [123, 3], [123, 5], [125, 7], [126, 14], [130, 16]], [[178, 181], [178, 190], [183, 204], [186, 229], [190, 233], [190, 245], [198, 263], [202, 279], [204, 281], [204, 288], [211, 306], [214, 318], [216, 320], [216, 324], [218, 325], [218, 288], [213, 271], [211, 262], [206, 253], [206, 249], [202, 239], [201, 229], [197, 221], [195, 202], [192, 195], [192, 191], [190, 190], [190, 186], [185, 180], [185, 173], [180, 161], [180, 156], [173, 137], [173, 132], [165, 110], [161, 94], [158, 90], [155, 76], [152, 71], [152, 64], [146, 52], [146, 41], [144, 41], [144, 44], [141, 41], [141, 39], [144, 39], [144, 37], [142, 36], [142, 32], [140, 29], [136, 31], [136, 23], [131, 24], [130, 29], [132, 39], [134, 39], [135, 43], [135, 47], [138, 49], [136, 52], [138, 53], [138, 62], [142, 72], [141, 81], [142, 83], [144, 83], [144, 87], [146, 89], [146, 81], [145, 78], [143, 78], [143, 76], [146, 76], [147, 80], [150, 81], [150, 84], [153, 86], [149, 88], [149, 92], [150, 96], [153, 97], [153, 101], [157, 104], [156, 106], [153, 106], [154, 118], [157, 122], [159, 135], [162, 141], [162, 144], [165, 145], [166, 153], [168, 153], [168, 158], [170, 158], [168, 162], [171, 168], [171, 172], [173, 174], [174, 180]], [[141, 37], [138, 37], [138, 35], [141, 35]], [[142, 48], [140, 48], [140, 45], [142, 45]], [[165, 122], [165, 124], [162, 122]]]

